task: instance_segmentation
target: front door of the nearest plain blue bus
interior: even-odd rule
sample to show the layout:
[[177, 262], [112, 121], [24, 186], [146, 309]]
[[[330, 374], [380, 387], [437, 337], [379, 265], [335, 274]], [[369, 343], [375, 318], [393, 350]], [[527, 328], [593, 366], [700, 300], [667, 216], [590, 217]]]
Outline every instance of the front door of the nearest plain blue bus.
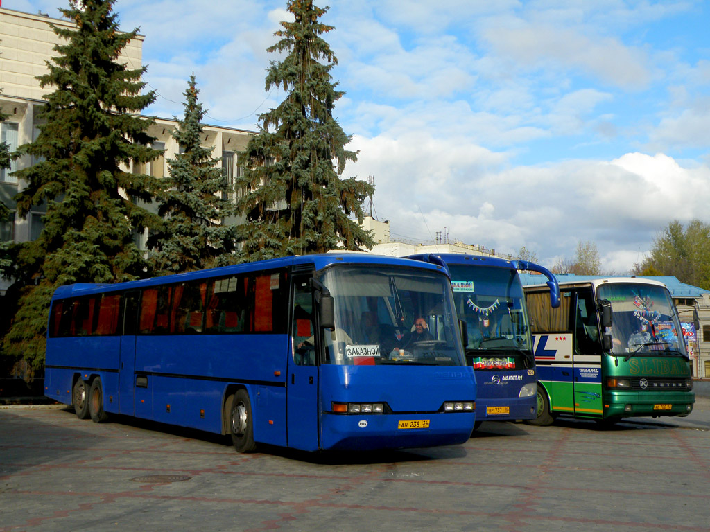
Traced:
[[318, 361], [315, 334], [315, 304], [310, 289], [310, 275], [293, 278], [291, 313], [291, 353], [286, 378], [286, 427], [290, 448], [317, 450]]

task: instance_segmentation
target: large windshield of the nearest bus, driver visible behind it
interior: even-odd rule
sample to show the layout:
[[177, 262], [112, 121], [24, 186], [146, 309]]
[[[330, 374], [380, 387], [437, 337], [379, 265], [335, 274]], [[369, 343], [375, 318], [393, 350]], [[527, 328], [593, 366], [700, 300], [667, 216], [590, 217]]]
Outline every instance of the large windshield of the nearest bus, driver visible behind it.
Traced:
[[401, 267], [343, 265], [321, 282], [334, 298], [324, 363], [464, 365], [449, 279]]

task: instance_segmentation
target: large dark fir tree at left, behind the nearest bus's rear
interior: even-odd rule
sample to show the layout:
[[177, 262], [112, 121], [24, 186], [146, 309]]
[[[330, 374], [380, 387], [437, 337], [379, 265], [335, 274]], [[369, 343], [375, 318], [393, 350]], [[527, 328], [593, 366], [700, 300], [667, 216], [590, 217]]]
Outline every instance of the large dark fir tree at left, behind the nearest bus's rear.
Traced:
[[50, 298], [74, 282], [119, 282], [146, 275], [146, 260], [134, 244], [136, 231], [151, 226], [137, 200], [151, 201], [153, 178], [124, 170], [159, 152], [148, 148], [150, 121], [138, 113], [155, 99], [141, 94], [145, 67], [129, 70], [119, 55], [138, 29], [121, 33], [114, 0], [70, 0], [62, 14], [75, 28], [54, 27], [63, 40], [38, 77], [52, 87], [38, 118], [38, 138], [18, 153], [37, 164], [17, 173], [27, 183], [16, 196], [19, 216], [45, 204], [44, 228], [18, 255], [24, 284], [7, 335], [7, 354], [43, 365]]

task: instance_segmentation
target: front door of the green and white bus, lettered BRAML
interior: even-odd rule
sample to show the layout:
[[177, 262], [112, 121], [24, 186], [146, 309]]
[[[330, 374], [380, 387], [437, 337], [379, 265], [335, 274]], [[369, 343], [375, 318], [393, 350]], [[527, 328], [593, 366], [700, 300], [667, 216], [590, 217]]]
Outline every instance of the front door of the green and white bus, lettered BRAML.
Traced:
[[591, 287], [576, 289], [574, 311], [574, 414], [601, 416], [601, 338]]

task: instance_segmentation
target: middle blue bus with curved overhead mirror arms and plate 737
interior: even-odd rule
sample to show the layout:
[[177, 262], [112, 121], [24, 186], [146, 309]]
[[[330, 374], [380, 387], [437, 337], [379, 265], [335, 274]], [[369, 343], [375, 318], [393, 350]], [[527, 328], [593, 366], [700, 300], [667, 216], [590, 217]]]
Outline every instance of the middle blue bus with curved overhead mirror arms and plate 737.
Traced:
[[410, 258], [434, 263], [441, 260], [449, 269], [456, 311], [465, 322], [462, 336], [466, 361], [476, 372], [476, 428], [483, 421], [535, 419], [535, 357], [518, 270], [545, 275], [550, 305], [556, 308], [559, 287], [555, 276], [545, 267], [524, 260], [461, 253]]

